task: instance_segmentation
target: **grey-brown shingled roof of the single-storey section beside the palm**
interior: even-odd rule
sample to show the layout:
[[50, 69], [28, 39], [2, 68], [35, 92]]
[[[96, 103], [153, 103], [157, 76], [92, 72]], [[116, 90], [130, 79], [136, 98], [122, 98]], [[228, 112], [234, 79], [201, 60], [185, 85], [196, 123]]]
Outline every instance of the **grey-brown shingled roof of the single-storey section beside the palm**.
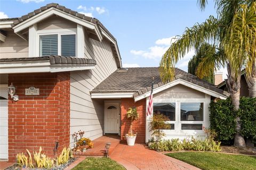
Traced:
[[[91, 92], [134, 92], [134, 97], [145, 94], [151, 90], [151, 81], [154, 77], [154, 88], [164, 85], [159, 75], [159, 67], [137, 67], [116, 70], [102, 81]], [[175, 68], [175, 79], [183, 79], [198, 86], [218, 92], [227, 96], [227, 92], [217, 86], [199, 79], [195, 75]]]

